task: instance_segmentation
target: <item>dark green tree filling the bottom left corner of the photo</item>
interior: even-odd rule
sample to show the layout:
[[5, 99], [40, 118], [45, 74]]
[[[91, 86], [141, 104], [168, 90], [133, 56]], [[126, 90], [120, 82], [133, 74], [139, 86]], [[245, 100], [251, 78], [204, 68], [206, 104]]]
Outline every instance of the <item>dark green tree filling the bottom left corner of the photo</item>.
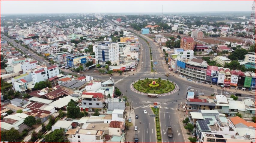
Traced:
[[20, 142], [19, 131], [15, 130], [14, 128], [6, 131], [1, 131], [1, 141]]

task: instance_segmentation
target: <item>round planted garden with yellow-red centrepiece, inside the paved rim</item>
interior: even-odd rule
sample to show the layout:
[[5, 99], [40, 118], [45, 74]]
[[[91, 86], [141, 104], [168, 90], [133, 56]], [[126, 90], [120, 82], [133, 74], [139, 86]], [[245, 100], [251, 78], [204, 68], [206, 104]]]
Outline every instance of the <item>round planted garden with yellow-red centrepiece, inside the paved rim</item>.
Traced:
[[133, 87], [143, 93], [155, 93], [164, 94], [171, 92], [175, 89], [175, 86], [169, 80], [158, 79], [148, 79], [138, 80], [133, 84]]

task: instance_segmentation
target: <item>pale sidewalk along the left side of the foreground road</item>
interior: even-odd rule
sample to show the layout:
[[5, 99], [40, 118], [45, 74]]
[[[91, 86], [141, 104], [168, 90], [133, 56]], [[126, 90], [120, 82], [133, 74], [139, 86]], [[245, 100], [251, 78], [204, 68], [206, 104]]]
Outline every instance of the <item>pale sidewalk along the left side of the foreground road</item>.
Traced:
[[129, 130], [125, 130], [125, 133], [126, 133], [125, 142], [134, 142], [133, 140], [134, 134], [135, 134], [134, 126], [136, 121], [135, 113], [134, 113], [134, 110], [131, 110], [130, 112], [130, 106], [128, 106], [127, 109], [125, 109], [125, 111], [127, 112], [127, 120], [129, 119], [129, 117], [131, 117], [132, 119], [132, 126], [129, 128]]

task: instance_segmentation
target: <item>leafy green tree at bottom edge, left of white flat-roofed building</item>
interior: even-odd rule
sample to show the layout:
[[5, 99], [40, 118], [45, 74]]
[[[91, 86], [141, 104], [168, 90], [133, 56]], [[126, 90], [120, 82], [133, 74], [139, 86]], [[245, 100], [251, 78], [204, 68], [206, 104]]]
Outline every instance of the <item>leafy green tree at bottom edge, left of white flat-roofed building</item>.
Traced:
[[55, 129], [53, 132], [45, 135], [45, 142], [66, 142], [64, 129]]

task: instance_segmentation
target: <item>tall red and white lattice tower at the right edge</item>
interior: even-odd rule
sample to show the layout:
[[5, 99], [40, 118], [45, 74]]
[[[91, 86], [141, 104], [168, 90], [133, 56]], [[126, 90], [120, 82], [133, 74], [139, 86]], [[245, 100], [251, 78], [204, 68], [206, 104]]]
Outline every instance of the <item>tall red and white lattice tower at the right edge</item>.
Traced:
[[254, 22], [255, 22], [255, 1], [253, 1], [252, 3], [252, 13], [249, 19], [249, 23], [246, 26], [245, 43], [246, 41], [248, 41], [248, 38], [252, 38], [253, 36], [253, 29], [255, 29]]

